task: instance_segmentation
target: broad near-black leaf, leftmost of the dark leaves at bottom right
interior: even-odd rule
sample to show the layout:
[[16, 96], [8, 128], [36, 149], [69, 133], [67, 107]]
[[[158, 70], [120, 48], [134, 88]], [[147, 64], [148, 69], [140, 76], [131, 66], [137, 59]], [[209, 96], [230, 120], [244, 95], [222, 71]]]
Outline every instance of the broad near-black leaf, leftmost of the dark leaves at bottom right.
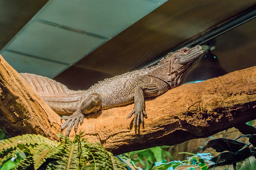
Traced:
[[207, 148], [212, 147], [217, 152], [236, 152], [240, 150], [243, 146], [245, 146], [245, 143], [243, 142], [238, 142], [232, 139], [218, 138], [209, 141], [207, 145], [203, 147], [202, 151], [205, 151]]

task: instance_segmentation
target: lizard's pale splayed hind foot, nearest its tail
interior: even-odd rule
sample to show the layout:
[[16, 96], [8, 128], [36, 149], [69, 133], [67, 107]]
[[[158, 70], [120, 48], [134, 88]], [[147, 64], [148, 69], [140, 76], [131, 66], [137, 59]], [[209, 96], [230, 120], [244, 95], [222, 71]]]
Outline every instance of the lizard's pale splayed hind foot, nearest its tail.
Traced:
[[75, 131], [77, 131], [79, 122], [80, 122], [80, 125], [82, 124], [82, 122], [84, 122], [84, 114], [80, 113], [79, 111], [76, 111], [71, 116], [61, 117], [61, 120], [66, 120], [64, 124], [61, 126], [61, 131], [68, 127], [66, 131], [66, 136], [68, 136], [74, 125], [75, 125]]

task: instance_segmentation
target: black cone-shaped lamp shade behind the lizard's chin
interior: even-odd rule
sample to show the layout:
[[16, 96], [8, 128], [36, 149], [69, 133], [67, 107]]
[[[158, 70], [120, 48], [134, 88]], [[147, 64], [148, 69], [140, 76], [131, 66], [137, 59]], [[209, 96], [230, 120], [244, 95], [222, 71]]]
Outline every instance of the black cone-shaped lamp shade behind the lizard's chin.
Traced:
[[227, 73], [228, 71], [221, 67], [217, 56], [209, 49], [204, 56], [199, 59], [195, 67], [185, 75], [183, 84], [201, 82]]

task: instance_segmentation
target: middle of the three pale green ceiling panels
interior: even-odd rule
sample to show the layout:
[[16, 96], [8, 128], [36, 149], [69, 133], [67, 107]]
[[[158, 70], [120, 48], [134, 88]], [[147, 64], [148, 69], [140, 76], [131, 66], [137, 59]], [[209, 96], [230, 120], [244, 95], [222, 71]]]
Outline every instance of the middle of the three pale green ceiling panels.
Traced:
[[32, 20], [6, 49], [72, 65], [105, 41]]

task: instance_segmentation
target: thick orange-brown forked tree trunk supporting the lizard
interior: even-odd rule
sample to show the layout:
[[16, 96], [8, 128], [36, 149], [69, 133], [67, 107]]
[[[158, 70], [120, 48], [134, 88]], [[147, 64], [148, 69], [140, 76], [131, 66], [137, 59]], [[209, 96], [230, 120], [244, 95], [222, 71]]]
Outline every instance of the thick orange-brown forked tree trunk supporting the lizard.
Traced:
[[[0, 129], [10, 136], [36, 133], [57, 139], [60, 117], [2, 57], [0, 61]], [[256, 119], [255, 75], [256, 66], [146, 99], [148, 118], [139, 134], [132, 118], [126, 119], [133, 110], [130, 104], [89, 114], [69, 137], [84, 131], [89, 142], [100, 142], [114, 154], [205, 138]]]

